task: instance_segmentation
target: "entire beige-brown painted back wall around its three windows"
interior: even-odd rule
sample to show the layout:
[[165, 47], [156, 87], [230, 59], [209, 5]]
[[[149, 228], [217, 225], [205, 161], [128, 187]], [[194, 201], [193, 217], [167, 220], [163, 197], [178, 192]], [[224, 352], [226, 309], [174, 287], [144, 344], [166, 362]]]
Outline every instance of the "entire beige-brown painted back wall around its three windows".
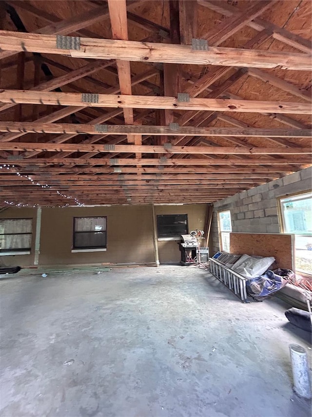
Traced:
[[[187, 214], [189, 231], [203, 229], [206, 204], [155, 206], [157, 214]], [[8, 208], [0, 218], [33, 218], [30, 255], [0, 257], [5, 265], [30, 266], [34, 263], [37, 209]], [[72, 253], [73, 218], [107, 216], [107, 250]], [[176, 241], [158, 241], [160, 263], [178, 263], [180, 252]], [[42, 208], [39, 265], [82, 263], [153, 263], [152, 207], [66, 207]]]

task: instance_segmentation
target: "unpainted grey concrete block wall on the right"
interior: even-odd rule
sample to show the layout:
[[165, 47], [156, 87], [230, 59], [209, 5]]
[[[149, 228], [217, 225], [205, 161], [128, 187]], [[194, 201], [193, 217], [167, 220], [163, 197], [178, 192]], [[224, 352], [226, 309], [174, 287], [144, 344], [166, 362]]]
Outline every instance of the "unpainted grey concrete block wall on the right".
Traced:
[[280, 233], [278, 198], [308, 192], [311, 188], [312, 167], [309, 167], [217, 201], [214, 204], [210, 254], [220, 250], [217, 212], [230, 210], [233, 232]]

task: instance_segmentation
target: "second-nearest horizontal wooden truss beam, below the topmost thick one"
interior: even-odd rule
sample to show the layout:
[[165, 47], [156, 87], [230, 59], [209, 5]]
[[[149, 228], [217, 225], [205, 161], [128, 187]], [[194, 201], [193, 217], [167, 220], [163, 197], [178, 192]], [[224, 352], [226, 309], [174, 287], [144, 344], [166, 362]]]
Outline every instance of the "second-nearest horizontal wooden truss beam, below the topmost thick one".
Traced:
[[[176, 110], [216, 110], [252, 113], [293, 113], [310, 114], [309, 103], [274, 102], [236, 99], [190, 98], [189, 102], [178, 101], [176, 97], [156, 97], [121, 94], [98, 94], [96, 102], [88, 96], [83, 99], [79, 93], [55, 91], [0, 90], [0, 102], [25, 103], [53, 106], [137, 108], [137, 109], [176, 109]], [[82, 101], [85, 100], [85, 101]], [[89, 100], [88, 100], [89, 99]]]

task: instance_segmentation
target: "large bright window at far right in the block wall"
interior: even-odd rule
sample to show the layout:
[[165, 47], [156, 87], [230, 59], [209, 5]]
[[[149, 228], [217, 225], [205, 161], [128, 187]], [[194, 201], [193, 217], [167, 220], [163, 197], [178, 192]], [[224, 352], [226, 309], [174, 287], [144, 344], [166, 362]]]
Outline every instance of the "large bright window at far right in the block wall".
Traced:
[[312, 193], [280, 199], [283, 233], [295, 235], [297, 272], [312, 275]]

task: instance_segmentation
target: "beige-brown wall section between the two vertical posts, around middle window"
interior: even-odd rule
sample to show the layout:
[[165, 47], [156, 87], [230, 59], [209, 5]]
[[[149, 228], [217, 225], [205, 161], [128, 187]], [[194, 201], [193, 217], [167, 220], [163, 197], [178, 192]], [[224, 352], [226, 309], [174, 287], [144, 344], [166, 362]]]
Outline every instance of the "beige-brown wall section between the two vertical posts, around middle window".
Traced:
[[[73, 218], [107, 216], [107, 250], [71, 253]], [[40, 264], [154, 262], [150, 206], [43, 208]]]

